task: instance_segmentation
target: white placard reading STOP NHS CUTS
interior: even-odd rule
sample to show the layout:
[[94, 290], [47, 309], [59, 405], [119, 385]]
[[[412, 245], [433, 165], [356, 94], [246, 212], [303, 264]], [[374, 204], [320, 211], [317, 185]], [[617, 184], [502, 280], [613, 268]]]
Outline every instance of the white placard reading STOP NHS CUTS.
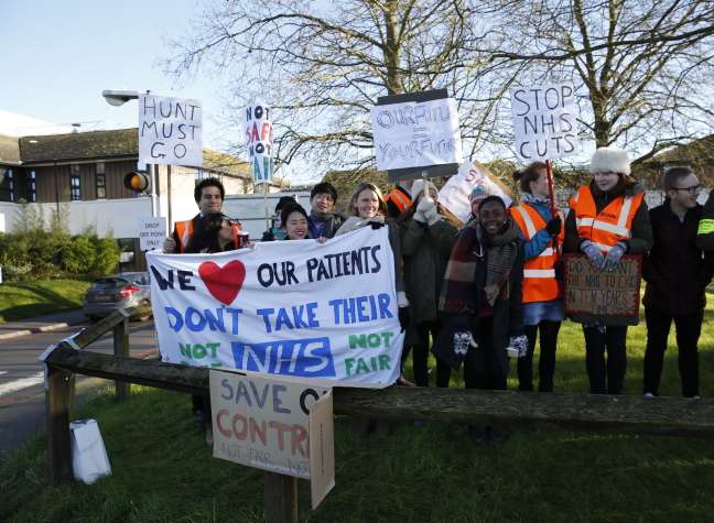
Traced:
[[510, 94], [516, 152], [522, 160], [553, 160], [580, 152], [572, 84], [516, 88]]

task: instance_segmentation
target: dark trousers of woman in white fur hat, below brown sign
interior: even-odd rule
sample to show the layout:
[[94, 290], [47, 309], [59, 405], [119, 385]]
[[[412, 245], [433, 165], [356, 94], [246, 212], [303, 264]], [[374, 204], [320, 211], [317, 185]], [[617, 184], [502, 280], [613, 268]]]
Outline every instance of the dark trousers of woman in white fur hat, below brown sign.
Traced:
[[621, 394], [627, 369], [627, 326], [607, 326], [604, 327], [604, 331], [597, 327], [583, 326], [583, 333], [591, 394]]

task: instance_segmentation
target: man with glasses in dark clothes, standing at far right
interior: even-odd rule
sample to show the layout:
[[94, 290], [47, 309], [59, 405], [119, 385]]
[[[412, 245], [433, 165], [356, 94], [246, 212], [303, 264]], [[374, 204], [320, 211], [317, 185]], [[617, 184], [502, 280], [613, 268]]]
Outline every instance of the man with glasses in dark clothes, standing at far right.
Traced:
[[689, 167], [664, 173], [667, 198], [650, 209], [654, 242], [645, 259], [646, 397], [659, 393], [662, 363], [672, 320], [677, 328], [682, 395], [699, 397], [697, 342], [704, 318], [705, 288], [712, 279], [711, 258], [696, 246], [703, 207], [697, 204], [701, 186]]

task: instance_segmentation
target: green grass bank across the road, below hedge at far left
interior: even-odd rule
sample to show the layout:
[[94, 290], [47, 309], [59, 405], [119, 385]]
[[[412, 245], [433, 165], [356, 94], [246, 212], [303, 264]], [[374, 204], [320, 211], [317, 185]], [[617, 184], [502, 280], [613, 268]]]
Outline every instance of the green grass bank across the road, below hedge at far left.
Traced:
[[90, 282], [37, 280], [0, 285], [0, 323], [82, 307]]

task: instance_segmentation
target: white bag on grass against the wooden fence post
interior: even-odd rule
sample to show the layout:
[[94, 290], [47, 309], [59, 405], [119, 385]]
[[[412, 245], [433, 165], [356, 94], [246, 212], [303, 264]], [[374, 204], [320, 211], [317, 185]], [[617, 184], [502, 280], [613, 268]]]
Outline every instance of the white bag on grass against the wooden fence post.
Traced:
[[95, 420], [69, 424], [72, 432], [72, 470], [75, 479], [91, 484], [102, 476], [111, 476], [107, 450]]

